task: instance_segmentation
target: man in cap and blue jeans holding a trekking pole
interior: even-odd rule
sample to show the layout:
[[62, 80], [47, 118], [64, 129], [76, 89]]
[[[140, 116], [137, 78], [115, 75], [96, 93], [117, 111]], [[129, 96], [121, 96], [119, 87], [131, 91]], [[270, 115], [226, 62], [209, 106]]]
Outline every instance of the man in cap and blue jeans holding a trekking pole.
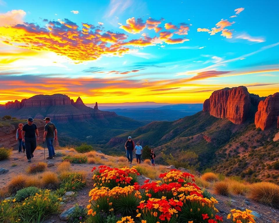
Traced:
[[49, 150], [49, 156], [47, 159], [52, 159], [55, 156], [53, 140], [57, 140], [57, 129], [55, 125], [50, 122], [50, 118], [46, 117], [43, 121], [46, 122], [44, 126], [44, 142], [47, 143], [47, 149]]

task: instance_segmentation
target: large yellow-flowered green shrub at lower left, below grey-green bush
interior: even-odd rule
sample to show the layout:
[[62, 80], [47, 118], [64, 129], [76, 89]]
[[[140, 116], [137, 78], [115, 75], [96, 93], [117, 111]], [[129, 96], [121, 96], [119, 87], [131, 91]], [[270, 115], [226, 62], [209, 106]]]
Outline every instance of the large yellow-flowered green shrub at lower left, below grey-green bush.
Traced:
[[58, 213], [61, 201], [50, 190], [40, 190], [34, 196], [29, 197], [23, 204], [15, 206], [15, 212], [25, 222], [42, 222], [49, 215]]

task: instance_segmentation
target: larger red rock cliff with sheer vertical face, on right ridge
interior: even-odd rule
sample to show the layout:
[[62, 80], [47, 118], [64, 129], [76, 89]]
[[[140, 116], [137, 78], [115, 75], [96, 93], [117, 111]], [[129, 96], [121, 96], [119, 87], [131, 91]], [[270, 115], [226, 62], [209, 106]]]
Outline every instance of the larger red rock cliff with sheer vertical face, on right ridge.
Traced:
[[214, 91], [203, 103], [203, 111], [216, 118], [228, 118], [234, 124], [244, 123], [250, 107], [250, 94], [244, 86]]

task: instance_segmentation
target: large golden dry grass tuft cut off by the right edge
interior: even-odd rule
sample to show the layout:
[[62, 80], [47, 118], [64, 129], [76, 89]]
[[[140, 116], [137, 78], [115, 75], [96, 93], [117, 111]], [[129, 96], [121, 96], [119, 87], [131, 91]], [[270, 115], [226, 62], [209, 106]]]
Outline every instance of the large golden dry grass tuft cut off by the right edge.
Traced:
[[274, 208], [279, 208], [279, 186], [269, 182], [251, 184], [248, 197]]

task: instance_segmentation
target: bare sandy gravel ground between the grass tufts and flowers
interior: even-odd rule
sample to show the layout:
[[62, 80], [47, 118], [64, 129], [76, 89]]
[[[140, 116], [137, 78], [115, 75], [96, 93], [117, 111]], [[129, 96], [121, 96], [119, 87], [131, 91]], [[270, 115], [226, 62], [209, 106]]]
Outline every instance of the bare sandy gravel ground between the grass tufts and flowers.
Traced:
[[[56, 150], [59, 151], [59, 150]], [[17, 151], [12, 152], [12, 156], [8, 160], [0, 161], [0, 167], [3, 167], [5, 169], [8, 169], [9, 172], [5, 174], [0, 175], [0, 187], [6, 187], [8, 185], [8, 182], [10, 179], [18, 174], [27, 174], [26, 169], [29, 165], [32, 165], [36, 162], [47, 162], [51, 161], [55, 165], [52, 167], [47, 168], [48, 171], [56, 172], [57, 165], [62, 162], [62, 157], [54, 157], [51, 160], [44, 160], [44, 150], [35, 150], [34, 152], [34, 158], [32, 158], [32, 162], [28, 163], [25, 153], [17, 154]], [[62, 151], [60, 151], [62, 152]], [[67, 150], [63, 151], [65, 153], [69, 152]], [[46, 150], [46, 157], [47, 157], [47, 150]], [[16, 160], [14, 160], [16, 159]], [[102, 158], [106, 159], [106, 158]], [[17, 164], [17, 166], [12, 166], [13, 164]], [[92, 173], [91, 170], [94, 166], [94, 164], [71, 164], [71, 169], [73, 171], [79, 171], [84, 170], [87, 172], [87, 183], [86, 186], [83, 188], [83, 190], [80, 190], [76, 192], [76, 194], [72, 197], [70, 197], [65, 204], [61, 206], [61, 212], [64, 210], [67, 210], [68, 208], [71, 208], [75, 204], [79, 204], [82, 206], [87, 206], [88, 204], [88, 193], [93, 187], [92, 183]], [[140, 184], [143, 184], [143, 181], [146, 178], [144, 176], [139, 176], [139, 182]], [[240, 208], [247, 208], [253, 211], [256, 211], [260, 214], [260, 218], [255, 219], [257, 223], [266, 223], [266, 222], [272, 222], [272, 223], [279, 223], [279, 210], [271, 208], [269, 206], [266, 206], [264, 204], [260, 204], [257, 202], [254, 202], [253, 200], [249, 200], [241, 195], [232, 195], [231, 197], [225, 197], [221, 195], [215, 195], [211, 190], [209, 190], [210, 193], [212, 193], [213, 197], [215, 197], [219, 204], [216, 205], [216, 208], [219, 209], [220, 213], [219, 215], [223, 216], [224, 222], [230, 222], [226, 219], [227, 214], [229, 211], [233, 208], [240, 209]], [[233, 199], [235, 202], [231, 202], [230, 200]], [[244, 200], [250, 202], [251, 204], [247, 205]], [[58, 215], [53, 215], [49, 219], [45, 221], [45, 223], [48, 222], [64, 222], [59, 219]]]

